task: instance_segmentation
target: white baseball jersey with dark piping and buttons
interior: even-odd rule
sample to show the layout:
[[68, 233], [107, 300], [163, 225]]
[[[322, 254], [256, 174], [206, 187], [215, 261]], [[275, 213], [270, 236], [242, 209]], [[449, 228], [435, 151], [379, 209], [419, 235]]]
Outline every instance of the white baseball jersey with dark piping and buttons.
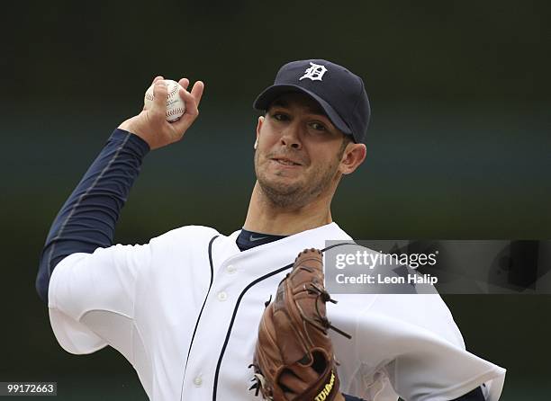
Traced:
[[[111, 345], [149, 398], [259, 400], [248, 369], [267, 299], [304, 248], [350, 240], [335, 223], [240, 252], [239, 231], [181, 227], [148, 245], [71, 254], [54, 270], [50, 322], [68, 352]], [[340, 391], [375, 401], [438, 401], [486, 383], [500, 397], [505, 370], [465, 351], [438, 295], [339, 295], [328, 304]]]

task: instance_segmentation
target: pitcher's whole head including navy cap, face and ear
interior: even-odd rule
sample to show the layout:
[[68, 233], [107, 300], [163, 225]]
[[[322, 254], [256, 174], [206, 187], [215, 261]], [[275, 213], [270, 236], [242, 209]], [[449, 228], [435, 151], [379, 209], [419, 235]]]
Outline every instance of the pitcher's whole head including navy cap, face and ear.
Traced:
[[254, 105], [266, 111], [257, 125], [257, 180], [276, 206], [330, 202], [340, 177], [366, 157], [366, 146], [357, 143], [369, 120], [366, 92], [343, 67], [324, 60], [289, 63]]

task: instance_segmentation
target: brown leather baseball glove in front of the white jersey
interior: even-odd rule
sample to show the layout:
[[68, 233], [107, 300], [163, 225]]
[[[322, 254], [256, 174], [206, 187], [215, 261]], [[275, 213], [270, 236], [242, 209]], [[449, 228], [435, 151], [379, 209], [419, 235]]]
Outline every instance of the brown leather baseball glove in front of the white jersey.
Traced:
[[305, 249], [279, 283], [275, 302], [266, 302], [258, 326], [254, 361], [256, 389], [266, 400], [331, 401], [339, 394], [337, 361], [328, 335], [325, 303], [336, 303], [323, 287], [323, 261]]

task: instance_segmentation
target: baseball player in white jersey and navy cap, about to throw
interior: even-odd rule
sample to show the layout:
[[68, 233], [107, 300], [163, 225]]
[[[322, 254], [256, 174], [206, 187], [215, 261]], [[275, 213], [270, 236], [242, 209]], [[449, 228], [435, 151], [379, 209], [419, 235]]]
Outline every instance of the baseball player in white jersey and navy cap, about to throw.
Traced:
[[[254, 400], [248, 365], [266, 301], [304, 248], [351, 240], [330, 202], [342, 176], [366, 157], [369, 102], [362, 79], [345, 67], [322, 59], [285, 64], [254, 102], [264, 113], [251, 140], [257, 182], [243, 227], [224, 236], [187, 226], [145, 245], [113, 245], [143, 158], [181, 139], [198, 116], [203, 83], [190, 91], [188, 79], [179, 83], [180, 120], [167, 122], [158, 76], [152, 106], [113, 131], [53, 222], [37, 290], [66, 351], [112, 346], [150, 399]], [[338, 299], [327, 315], [352, 339], [330, 334], [340, 361], [331, 399], [500, 397], [505, 370], [465, 351], [438, 294]]]

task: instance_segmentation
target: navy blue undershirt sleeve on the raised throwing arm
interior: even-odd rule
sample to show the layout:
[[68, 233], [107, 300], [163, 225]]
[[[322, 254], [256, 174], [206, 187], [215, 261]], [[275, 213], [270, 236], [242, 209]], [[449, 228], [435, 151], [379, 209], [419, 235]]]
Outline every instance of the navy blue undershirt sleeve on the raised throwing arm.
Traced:
[[36, 290], [48, 304], [51, 272], [69, 254], [113, 245], [116, 222], [140, 173], [149, 145], [115, 129], [77, 188], [59, 210], [42, 250]]

